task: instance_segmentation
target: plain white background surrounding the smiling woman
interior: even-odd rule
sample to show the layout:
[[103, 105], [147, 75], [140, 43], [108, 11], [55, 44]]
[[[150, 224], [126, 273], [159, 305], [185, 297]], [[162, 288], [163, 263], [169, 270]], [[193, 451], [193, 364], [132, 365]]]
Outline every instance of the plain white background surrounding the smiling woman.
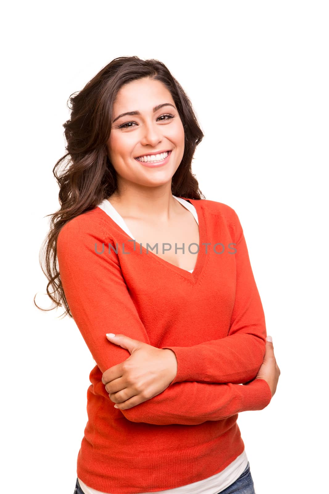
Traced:
[[[239, 414], [256, 494], [328, 465], [328, 2], [7, 2], [2, 10], [1, 491], [73, 493], [94, 361], [38, 255], [59, 208], [67, 100], [113, 58], [164, 62], [205, 134], [193, 173], [243, 226], [281, 370]], [[325, 178], [327, 176], [327, 179]], [[9, 255], [8, 255], [9, 253]]]

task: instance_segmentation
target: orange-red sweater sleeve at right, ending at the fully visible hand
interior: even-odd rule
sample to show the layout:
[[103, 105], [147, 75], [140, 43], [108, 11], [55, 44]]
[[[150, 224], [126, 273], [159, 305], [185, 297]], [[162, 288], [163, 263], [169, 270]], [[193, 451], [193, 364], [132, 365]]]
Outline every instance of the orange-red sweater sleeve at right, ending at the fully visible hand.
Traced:
[[236, 294], [228, 335], [194, 346], [165, 346], [177, 358], [181, 381], [245, 383], [256, 377], [265, 355], [266, 326], [240, 220], [234, 212]]

